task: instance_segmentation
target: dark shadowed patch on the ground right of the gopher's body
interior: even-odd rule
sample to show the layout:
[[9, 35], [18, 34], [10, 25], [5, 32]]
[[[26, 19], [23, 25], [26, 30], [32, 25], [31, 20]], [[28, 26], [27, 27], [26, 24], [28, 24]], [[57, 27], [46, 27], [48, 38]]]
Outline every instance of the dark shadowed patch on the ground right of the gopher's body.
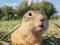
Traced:
[[44, 37], [43, 38], [43, 45], [60, 45], [60, 39], [55, 38], [55, 37]]

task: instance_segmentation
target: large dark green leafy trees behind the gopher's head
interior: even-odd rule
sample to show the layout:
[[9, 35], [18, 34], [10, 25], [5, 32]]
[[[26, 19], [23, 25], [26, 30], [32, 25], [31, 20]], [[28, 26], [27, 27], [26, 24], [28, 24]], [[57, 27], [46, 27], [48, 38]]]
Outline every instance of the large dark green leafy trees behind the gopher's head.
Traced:
[[54, 5], [47, 1], [31, 3], [28, 6], [26, 1], [23, 1], [16, 8], [10, 7], [8, 5], [4, 5], [0, 8], [0, 20], [15, 20], [21, 19], [25, 12], [28, 10], [39, 10], [44, 12], [45, 16], [50, 19], [50, 17], [56, 13], [56, 9]]

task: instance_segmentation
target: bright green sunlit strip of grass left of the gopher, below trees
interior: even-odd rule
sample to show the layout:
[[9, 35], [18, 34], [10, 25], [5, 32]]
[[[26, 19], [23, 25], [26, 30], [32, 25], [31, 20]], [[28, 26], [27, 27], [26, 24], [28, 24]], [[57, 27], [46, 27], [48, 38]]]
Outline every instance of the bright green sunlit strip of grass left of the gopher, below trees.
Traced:
[[18, 21], [18, 20], [0, 21], [0, 30], [9, 31], [9, 30], [13, 29], [19, 23], [20, 23], [20, 21]]

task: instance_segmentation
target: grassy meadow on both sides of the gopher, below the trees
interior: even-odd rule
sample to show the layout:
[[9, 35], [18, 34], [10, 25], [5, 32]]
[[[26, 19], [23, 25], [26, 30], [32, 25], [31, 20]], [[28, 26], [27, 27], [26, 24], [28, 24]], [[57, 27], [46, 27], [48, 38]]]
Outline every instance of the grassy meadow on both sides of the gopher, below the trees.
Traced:
[[[20, 20], [0, 21], [0, 43], [5, 43], [2, 41], [4, 36], [4, 41], [9, 40], [9, 37], [6, 35], [13, 31], [13, 28], [20, 22]], [[43, 45], [60, 45], [60, 28], [58, 25], [60, 26], [60, 21], [58, 20], [49, 21], [49, 28], [43, 35]]]

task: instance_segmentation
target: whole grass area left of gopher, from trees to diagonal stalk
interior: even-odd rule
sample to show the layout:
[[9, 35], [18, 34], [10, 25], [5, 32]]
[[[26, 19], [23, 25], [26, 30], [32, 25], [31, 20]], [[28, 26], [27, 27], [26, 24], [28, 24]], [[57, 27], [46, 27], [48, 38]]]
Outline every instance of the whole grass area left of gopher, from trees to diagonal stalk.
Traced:
[[0, 21], [0, 40], [6, 37], [5, 35], [9, 34], [14, 29], [14, 27], [19, 23], [20, 23], [19, 20]]

